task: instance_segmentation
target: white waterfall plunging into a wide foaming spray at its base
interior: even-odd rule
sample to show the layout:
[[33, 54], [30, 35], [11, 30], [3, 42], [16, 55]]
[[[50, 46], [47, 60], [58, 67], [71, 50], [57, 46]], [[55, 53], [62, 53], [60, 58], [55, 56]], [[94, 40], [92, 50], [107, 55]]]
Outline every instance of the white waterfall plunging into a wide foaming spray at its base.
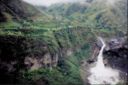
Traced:
[[103, 46], [99, 52], [96, 66], [90, 69], [91, 75], [88, 77], [90, 84], [117, 84], [119, 82], [119, 72], [109, 67], [105, 67], [103, 63], [103, 50], [106, 46], [101, 37], [98, 39]]

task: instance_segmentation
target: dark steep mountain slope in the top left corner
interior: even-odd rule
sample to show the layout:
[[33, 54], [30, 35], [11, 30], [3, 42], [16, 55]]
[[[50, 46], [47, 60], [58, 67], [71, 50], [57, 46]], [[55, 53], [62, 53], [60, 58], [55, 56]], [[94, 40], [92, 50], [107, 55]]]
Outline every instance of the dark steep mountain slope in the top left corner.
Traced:
[[0, 0], [0, 21], [8, 19], [26, 19], [39, 11], [32, 5], [21, 0]]

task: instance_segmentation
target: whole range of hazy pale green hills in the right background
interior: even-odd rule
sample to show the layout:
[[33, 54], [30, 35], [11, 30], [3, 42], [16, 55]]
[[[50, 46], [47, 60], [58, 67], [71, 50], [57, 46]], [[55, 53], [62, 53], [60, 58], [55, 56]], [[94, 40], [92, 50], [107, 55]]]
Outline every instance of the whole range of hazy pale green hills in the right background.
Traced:
[[54, 4], [42, 10], [60, 17], [61, 23], [68, 22], [71, 26], [126, 32], [126, 6], [127, 0], [118, 0], [114, 4], [108, 3], [107, 0], [85, 0], [85, 3]]

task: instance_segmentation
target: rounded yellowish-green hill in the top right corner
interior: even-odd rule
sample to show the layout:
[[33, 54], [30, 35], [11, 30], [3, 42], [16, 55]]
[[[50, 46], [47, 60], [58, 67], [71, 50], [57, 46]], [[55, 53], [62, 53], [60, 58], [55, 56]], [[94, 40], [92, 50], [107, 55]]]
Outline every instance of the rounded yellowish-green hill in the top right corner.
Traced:
[[87, 22], [93, 23], [94, 27], [126, 31], [127, 1], [120, 0], [113, 4], [105, 1], [96, 0], [91, 4], [85, 13]]

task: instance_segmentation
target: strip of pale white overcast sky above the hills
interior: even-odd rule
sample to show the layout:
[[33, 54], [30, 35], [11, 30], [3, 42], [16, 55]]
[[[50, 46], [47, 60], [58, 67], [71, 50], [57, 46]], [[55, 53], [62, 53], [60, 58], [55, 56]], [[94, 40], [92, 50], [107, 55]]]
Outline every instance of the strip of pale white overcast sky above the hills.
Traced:
[[49, 6], [49, 5], [55, 4], [55, 3], [76, 2], [76, 1], [81, 1], [81, 0], [23, 0], [23, 1], [26, 1], [33, 5]]

